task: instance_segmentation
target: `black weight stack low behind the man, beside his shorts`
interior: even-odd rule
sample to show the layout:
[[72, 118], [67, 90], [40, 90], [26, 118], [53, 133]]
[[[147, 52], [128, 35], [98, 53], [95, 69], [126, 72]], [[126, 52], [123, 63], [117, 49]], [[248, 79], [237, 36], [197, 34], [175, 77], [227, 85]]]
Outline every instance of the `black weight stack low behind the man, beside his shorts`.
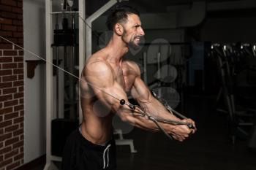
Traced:
[[51, 153], [61, 157], [69, 134], [78, 128], [78, 120], [55, 119], [51, 122]]

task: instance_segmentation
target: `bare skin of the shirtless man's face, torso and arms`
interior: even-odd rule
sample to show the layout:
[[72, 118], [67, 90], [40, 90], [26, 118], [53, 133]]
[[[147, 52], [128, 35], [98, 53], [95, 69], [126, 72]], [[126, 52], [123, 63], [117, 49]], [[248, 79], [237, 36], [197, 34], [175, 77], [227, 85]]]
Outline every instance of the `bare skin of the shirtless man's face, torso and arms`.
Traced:
[[[138, 47], [142, 36], [144, 36], [144, 31], [140, 18], [138, 15], [130, 14], [127, 23], [116, 23], [113, 28], [113, 37], [108, 45], [91, 55], [86, 62], [81, 75], [83, 81], [80, 81], [83, 111], [81, 130], [83, 136], [94, 144], [102, 144], [110, 139], [113, 131], [112, 118], [115, 114], [124, 122], [139, 128], [159, 131], [147, 117], [133, 115], [129, 107], [119, 104], [116, 98], [124, 99], [126, 103], [129, 103], [127, 93], [130, 93], [151, 115], [180, 120], [167, 112], [167, 109], [151, 95], [148, 87], [140, 78], [138, 65], [123, 58], [129, 47]], [[191, 119], [181, 121], [192, 123], [195, 127], [195, 122]], [[167, 123], [160, 123], [160, 125], [178, 141], [183, 141], [189, 134], [195, 133], [195, 129], [189, 129], [187, 125]]]

